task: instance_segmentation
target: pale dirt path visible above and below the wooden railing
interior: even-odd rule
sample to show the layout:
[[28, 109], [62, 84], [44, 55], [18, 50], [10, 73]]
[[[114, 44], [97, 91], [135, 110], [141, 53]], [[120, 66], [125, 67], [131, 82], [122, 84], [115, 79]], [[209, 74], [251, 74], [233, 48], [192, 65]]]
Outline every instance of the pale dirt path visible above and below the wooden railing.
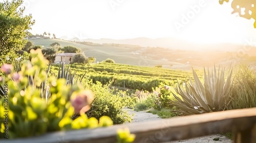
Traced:
[[[129, 114], [133, 115], [133, 121], [132, 123], [139, 123], [139, 122], [147, 122], [147, 121], [155, 121], [155, 120], [162, 120], [158, 115], [147, 113], [146, 111], [133, 111], [131, 109], [125, 109], [129, 112]], [[213, 140], [214, 138], [219, 138], [218, 141]], [[186, 139], [186, 140], [179, 140], [179, 141], [169, 141], [165, 143], [231, 143], [232, 140], [228, 139], [227, 137], [223, 135], [210, 135], [210, 136], [203, 136], [199, 138], [193, 138], [193, 139]]]

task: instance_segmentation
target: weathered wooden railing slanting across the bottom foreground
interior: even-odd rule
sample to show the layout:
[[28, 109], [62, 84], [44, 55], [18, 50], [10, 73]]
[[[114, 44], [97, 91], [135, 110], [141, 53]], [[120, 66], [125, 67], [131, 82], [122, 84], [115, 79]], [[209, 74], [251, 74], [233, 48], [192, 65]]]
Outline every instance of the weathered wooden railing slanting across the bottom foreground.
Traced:
[[256, 108], [229, 110], [200, 115], [173, 117], [145, 123], [56, 132], [38, 137], [0, 140], [6, 143], [82, 143], [116, 142], [117, 129], [129, 128], [136, 134], [134, 142], [165, 142], [233, 132], [233, 142], [256, 142]]

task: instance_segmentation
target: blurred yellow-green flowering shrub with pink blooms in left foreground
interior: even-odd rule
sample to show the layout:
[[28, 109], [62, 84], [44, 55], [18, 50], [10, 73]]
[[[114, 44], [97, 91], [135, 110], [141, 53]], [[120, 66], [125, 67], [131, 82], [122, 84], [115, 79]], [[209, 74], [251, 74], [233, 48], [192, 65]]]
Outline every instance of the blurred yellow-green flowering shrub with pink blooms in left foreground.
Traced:
[[[113, 125], [110, 117], [102, 116], [99, 121], [94, 117], [88, 118], [84, 112], [90, 109], [94, 97], [92, 91], [83, 89], [81, 85], [66, 85], [65, 79], [48, 78], [51, 98], [48, 101], [42, 99], [42, 82], [47, 77], [47, 63], [37, 49], [31, 51], [31, 62], [23, 62], [18, 73], [13, 71], [11, 65], [4, 64], [1, 67], [5, 76], [0, 77], [0, 85], [4, 87], [0, 112], [8, 111], [8, 117], [0, 116], [0, 138], [29, 137], [52, 131]], [[80, 116], [72, 121], [71, 116], [75, 112]], [[7, 136], [4, 134], [6, 129]]]

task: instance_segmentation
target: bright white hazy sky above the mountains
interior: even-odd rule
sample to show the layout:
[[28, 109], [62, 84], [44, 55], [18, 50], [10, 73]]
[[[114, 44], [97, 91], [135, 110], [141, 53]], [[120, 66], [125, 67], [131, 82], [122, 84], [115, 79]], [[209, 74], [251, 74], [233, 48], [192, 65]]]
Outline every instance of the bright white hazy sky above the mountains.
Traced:
[[[0, 0], [1, 1], [1, 0]], [[25, 0], [33, 34], [79, 39], [178, 37], [199, 43], [244, 43], [253, 20], [231, 14], [218, 0]]]

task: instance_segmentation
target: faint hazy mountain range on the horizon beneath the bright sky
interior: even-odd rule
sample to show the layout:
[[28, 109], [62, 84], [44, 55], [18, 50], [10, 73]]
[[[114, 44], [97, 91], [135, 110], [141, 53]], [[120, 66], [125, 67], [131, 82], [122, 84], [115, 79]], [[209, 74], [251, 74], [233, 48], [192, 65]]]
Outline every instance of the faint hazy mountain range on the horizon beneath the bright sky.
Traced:
[[216, 43], [216, 44], [198, 44], [185, 40], [180, 40], [177, 38], [133, 38], [133, 39], [79, 39], [72, 38], [68, 39], [66, 36], [60, 37], [63, 40], [70, 41], [86, 41], [93, 43], [118, 43], [118, 44], [130, 44], [130, 45], [139, 45], [143, 47], [164, 47], [174, 50], [189, 50], [189, 51], [229, 51], [236, 52], [239, 49], [243, 48], [243, 45], [233, 44], [233, 43]]

